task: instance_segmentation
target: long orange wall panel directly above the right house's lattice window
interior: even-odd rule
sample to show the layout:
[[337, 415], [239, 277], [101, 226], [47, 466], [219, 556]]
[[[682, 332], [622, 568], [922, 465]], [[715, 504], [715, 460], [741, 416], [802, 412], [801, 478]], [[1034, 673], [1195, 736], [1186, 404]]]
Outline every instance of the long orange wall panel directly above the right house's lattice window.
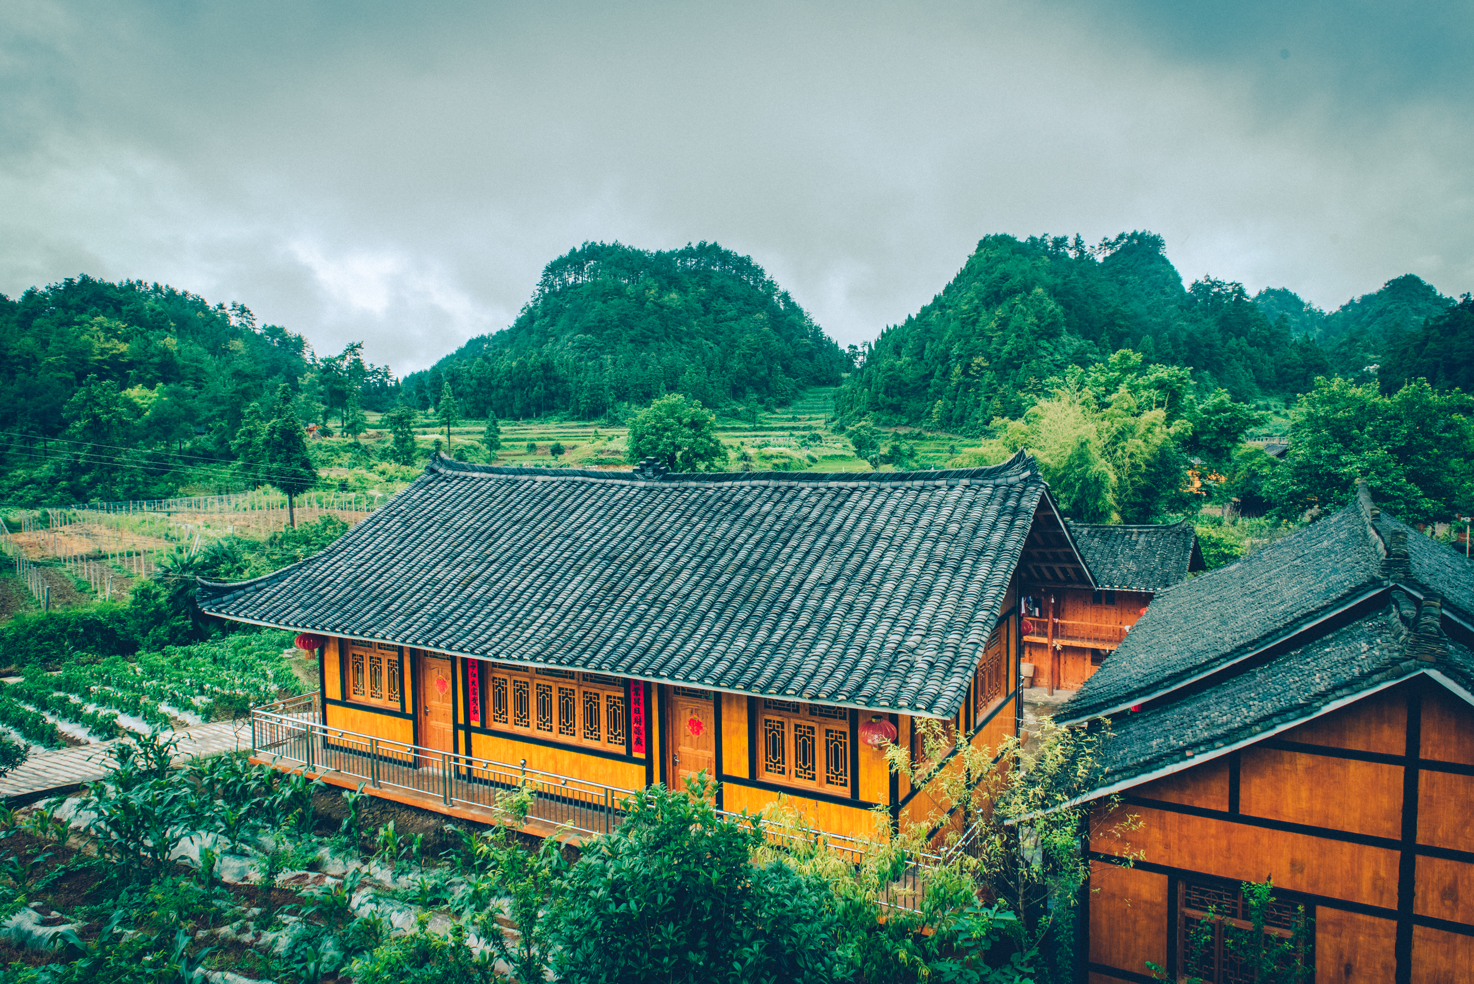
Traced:
[[[1151, 807], [1132, 806], [1129, 810], [1142, 820], [1142, 829], [1131, 835], [1131, 843], [1145, 850], [1144, 860], [1234, 881], [1260, 882], [1274, 876], [1276, 885], [1293, 891], [1386, 909], [1397, 906], [1394, 850], [1271, 832]], [[1092, 840], [1091, 847], [1120, 853], [1104, 840]]]

